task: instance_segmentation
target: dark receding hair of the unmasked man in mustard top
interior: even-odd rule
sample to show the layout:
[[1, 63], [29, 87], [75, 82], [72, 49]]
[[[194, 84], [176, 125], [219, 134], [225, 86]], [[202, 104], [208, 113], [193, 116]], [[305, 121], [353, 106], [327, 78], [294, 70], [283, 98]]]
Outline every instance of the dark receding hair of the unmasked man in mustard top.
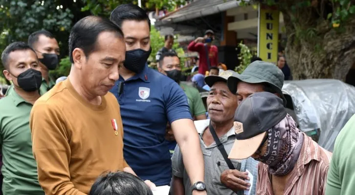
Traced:
[[74, 63], [73, 51], [80, 48], [84, 51], [86, 58], [95, 51], [96, 40], [102, 32], [114, 32], [118, 38], [123, 40], [123, 32], [110, 20], [98, 16], [87, 16], [71, 28], [69, 36], [69, 58]]

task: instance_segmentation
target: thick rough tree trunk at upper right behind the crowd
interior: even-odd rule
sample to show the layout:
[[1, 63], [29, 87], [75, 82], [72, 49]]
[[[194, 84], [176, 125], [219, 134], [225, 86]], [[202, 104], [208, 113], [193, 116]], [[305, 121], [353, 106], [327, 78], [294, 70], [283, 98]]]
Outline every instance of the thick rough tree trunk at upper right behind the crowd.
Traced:
[[[283, 9], [286, 34], [288, 36], [286, 58], [294, 79], [335, 78], [345, 80], [355, 63], [355, 17], [340, 24], [338, 33], [322, 17], [314, 17], [314, 9], [294, 12]], [[313, 37], [301, 36], [297, 29], [314, 28]], [[307, 31], [307, 30], [303, 30]], [[298, 31], [299, 32], [299, 31]]]

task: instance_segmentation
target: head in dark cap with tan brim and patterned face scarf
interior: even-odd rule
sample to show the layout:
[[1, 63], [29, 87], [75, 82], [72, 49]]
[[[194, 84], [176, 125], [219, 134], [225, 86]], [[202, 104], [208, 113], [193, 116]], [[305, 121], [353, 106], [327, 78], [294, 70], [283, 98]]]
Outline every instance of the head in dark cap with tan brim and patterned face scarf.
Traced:
[[254, 93], [238, 106], [234, 116], [236, 142], [228, 158], [249, 156], [268, 165], [271, 175], [287, 175], [296, 164], [304, 135], [283, 106], [268, 92]]

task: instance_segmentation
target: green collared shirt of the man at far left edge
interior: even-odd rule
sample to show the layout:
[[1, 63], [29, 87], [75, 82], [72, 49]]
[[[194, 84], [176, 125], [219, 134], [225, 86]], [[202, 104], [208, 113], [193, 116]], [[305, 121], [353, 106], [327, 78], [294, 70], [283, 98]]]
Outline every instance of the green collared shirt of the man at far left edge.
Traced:
[[0, 143], [4, 195], [44, 195], [32, 153], [29, 115], [32, 104], [14, 89], [0, 99]]

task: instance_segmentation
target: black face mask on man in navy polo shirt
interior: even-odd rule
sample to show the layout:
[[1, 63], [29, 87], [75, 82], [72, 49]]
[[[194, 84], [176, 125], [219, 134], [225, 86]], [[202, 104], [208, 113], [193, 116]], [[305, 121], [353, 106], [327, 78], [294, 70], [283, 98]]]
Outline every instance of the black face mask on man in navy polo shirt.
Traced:
[[147, 59], [149, 55], [152, 53], [152, 47], [145, 51], [143, 49], [134, 49], [131, 51], [126, 51], [126, 60], [124, 66], [138, 74], [143, 71], [145, 64], [147, 63]]

